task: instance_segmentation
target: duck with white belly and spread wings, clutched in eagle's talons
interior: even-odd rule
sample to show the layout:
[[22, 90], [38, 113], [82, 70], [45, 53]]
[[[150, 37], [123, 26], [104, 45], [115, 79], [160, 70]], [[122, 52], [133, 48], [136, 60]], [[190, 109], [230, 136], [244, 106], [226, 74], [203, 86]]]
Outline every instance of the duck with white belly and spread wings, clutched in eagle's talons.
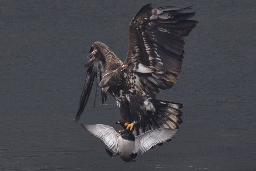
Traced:
[[103, 124], [81, 124], [83, 128], [94, 136], [100, 138], [107, 147], [113, 151], [106, 149], [109, 156], [120, 156], [125, 162], [133, 161], [138, 153], [144, 153], [154, 145], [163, 143], [179, 132], [178, 129], [154, 129], [147, 131], [138, 136], [134, 136], [130, 129], [115, 131], [109, 125]]

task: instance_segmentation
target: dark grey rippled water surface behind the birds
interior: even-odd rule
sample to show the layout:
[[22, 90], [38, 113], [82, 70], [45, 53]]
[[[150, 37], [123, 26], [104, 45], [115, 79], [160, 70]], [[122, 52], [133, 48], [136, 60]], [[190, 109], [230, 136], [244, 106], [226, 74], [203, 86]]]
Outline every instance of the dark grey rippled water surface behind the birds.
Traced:
[[[91, 44], [122, 61], [139, 9], [194, 5], [182, 74], [158, 99], [184, 104], [180, 132], [139, 154], [111, 158], [81, 123], [120, 129], [113, 97], [89, 99], [73, 121]], [[256, 2], [239, 0], [0, 2], [0, 170], [256, 170]], [[94, 90], [93, 90], [94, 91]]]

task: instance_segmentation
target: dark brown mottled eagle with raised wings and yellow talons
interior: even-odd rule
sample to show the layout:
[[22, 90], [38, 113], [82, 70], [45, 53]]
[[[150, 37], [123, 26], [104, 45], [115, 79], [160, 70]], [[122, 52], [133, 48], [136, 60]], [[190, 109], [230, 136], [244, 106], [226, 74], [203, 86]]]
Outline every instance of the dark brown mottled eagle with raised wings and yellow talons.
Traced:
[[95, 102], [100, 86], [102, 104], [107, 93], [117, 101], [121, 123], [134, 136], [151, 129], [179, 129], [183, 115], [180, 103], [156, 99], [159, 89], [177, 83], [184, 58], [183, 37], [198, 23], [192, 6], [142, 7], [129, 24], [128, 52], [124, 63], [102, 42], [94, 42], [89, 61], [84, 65], [87, 77], [75, 117], [78, 121], [87, 104], [96, 78]]

